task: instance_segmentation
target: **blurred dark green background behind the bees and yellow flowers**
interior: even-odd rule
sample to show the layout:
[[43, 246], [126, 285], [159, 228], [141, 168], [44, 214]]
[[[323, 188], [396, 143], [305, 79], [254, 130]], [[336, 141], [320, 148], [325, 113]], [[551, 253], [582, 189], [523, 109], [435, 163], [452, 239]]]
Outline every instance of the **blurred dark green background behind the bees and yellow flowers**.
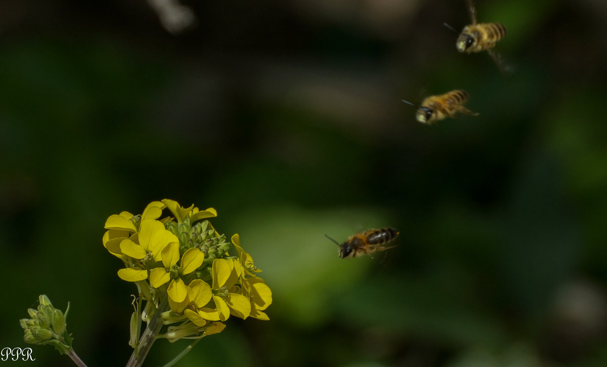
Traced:
[[[143, 0], [0, 2], [2, 348], [47, 294], [89, 367], [125, 365], [104, 221], [171, 198], [215, 207], [274, 295], [178, 366], [607, 365], [605, 1], [478, 0], [509, 77], [456, 52], [464, 1], [184, 4], [172, 35]], [[401, 102], [453, 89], [480, 116]], [[385, 226], [373, 258], [324, 237]]]

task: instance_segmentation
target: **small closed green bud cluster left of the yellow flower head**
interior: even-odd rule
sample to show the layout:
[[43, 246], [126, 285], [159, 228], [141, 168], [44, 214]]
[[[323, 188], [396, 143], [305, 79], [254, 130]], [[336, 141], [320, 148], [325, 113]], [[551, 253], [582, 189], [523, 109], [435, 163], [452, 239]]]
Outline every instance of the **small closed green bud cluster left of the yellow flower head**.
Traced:
[[19, 320], [19, 325], [24, 330], [23, 340], [26, 343], [53, 345], [61, 354], [69, 352], [72, 349], [72, 337], [66, 330], [69, 303], [64, 315], [60, 309], [53, 307], [46, 295], [40, 295], [38, 300], [38, 309], [27, 310], [31, 318]]

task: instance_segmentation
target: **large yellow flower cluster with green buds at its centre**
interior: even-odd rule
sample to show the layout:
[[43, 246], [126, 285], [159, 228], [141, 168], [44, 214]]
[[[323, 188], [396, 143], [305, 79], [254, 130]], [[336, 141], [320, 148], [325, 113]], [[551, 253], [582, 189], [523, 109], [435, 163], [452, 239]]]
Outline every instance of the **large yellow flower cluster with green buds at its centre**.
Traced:
[[[164, 209], [172, 216], [159, 220]], [[168, 297], [165, 324], [189, 320], [199, 328], [229, 315], [268, 320], [263, 310], [272, 303], [270, 288], [257, 277], [260, 270], [240, 247], [239, 235], [226, 241], [206, 220], [216, 216], [212, 208], [184, 208], [164, 199], [148, 204], [141, 215], [121, 212], [107, 218], [103, 245], [124, 262], [118, 277], [135, 282], [152, 305]], [[219, 332], [218, 324], [207, 326]]]

